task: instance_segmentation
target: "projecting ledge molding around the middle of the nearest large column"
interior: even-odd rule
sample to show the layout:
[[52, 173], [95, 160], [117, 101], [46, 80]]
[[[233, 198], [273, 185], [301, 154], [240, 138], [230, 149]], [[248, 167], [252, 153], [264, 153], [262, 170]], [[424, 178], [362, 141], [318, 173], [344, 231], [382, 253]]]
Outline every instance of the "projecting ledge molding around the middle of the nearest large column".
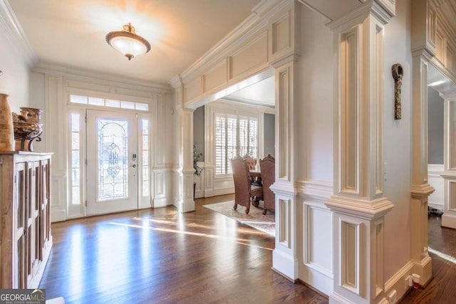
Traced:
[[394, 207], [393, 203], [385, 197], [373, 201], [364, 201], [361, 199], [331, 196], [325, 204], [331, 211], [335, 211], [338, 214], [346, 214], [367, 220], [383, 216]]

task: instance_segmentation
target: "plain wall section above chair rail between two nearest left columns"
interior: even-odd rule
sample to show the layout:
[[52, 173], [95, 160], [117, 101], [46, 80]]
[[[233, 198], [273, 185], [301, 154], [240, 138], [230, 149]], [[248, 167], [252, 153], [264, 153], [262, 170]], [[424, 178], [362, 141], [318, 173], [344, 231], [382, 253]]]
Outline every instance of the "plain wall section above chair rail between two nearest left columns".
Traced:
[[306, 6], [301, 10], [298, 177], [333, 180], [333, 32]]

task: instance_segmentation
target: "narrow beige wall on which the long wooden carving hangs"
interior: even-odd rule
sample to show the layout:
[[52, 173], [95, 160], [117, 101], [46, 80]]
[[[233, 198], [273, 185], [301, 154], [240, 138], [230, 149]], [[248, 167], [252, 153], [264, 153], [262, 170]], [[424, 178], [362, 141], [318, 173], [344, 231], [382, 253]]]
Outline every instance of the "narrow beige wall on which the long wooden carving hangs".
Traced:
[[[383, 162], [385, 196], [394, 208], [385, 216], [385, 281], [410, 261], [412, 75], [410, 1], [396, 1], [396, 16], [385, 26], [383, 45]], [[394, 119], [391, 66], [403, 65], [402, 119]], [[402, 291], [402, 290], [401, 290]]]

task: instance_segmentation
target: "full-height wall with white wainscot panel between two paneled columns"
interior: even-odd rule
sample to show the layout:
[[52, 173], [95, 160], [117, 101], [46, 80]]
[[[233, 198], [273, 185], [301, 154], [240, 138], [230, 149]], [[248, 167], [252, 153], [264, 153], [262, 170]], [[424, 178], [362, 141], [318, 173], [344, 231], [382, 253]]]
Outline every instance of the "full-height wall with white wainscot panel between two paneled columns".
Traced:
[[296, 157], [299, 278], [327, 295], [333, 290], [333, 32], [301, 6]]

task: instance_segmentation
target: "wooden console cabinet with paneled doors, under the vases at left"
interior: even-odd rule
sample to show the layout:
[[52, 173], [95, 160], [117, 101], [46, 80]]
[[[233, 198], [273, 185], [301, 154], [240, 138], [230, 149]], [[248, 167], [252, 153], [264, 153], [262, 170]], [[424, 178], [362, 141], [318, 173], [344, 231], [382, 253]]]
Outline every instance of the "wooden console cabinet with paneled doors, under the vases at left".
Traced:
[[51, 253], [51, 154], [0, 152], [0, 288], [38, 288]]

